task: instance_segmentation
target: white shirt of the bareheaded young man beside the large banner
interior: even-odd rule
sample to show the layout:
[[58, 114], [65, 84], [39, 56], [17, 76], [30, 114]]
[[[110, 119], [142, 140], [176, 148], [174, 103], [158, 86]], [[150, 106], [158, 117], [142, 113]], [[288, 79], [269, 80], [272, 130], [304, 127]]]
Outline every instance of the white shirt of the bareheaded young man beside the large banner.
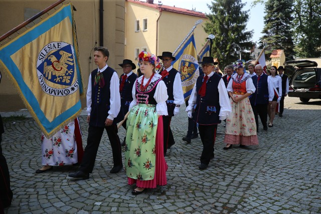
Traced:
[[[106, 64], [105, 67], [103, 67], [101, 70], [98, 68], [98, 72], [103, 72], [108, 68], [108, 65]], [[113, 73], [110, 80], [110, 109], [108, 111], [108, 119], [114, 120], [115, 117], [117, 117], [119, 111], [120, 111], [120, 93], [119, 93], [119, 79], [116, 72]], [[91, 74], [89, 75], [89, 82], [88, 82], [88, 89], [87, 89], [87, 112], [88, 115], [90, 115], [91, 112]]]

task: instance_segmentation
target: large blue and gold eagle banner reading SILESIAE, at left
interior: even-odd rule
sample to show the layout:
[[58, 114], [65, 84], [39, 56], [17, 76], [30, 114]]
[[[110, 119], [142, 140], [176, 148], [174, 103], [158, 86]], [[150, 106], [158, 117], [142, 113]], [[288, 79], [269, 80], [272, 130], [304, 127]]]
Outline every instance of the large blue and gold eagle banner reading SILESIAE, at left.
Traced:
[[46, 136], [80, 114], [84, 91], [70, 3], [1, 47], [0, 64]]

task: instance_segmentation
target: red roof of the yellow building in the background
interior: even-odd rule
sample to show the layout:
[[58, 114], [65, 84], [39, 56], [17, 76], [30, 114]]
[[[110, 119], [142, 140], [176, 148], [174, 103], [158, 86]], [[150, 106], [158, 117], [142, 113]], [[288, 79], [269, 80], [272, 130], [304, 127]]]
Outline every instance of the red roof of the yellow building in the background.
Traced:
[[[126, 0], [127, 2], [130, 3], [135, 3], [138, 5], [143, 5], [146, 7], [154, 8], [159, 11], [166, 11], [166, 12], [171, 12], [171, 13], [176, 13], [176, 14], [183, 14], [183, 15], [188, 15], [188, 16], [193, 16], [193, 17], [200, 17], [200, 18], [206, 18], [205, 14], [201, 12], [196, 12], [196, 11], [191, 11], [183, 8], [177, 8], [177, 7], [172, 7], [172, 6], [166, 6], [166, 5], [158, 5], [158, 4], [149, 4], [147, 2], [142, 2], [138, 0]], [[157, 2], [157, 0], [155, 0]]]

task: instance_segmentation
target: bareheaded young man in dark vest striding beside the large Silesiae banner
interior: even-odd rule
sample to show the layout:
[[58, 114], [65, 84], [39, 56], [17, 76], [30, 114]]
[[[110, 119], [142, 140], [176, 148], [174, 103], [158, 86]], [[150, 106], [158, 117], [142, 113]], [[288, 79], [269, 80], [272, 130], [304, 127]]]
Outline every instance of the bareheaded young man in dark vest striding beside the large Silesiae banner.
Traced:
[[69, 173], [72, 178], [89, 178], [104, 129], [107, 131], [114, 162], [110, 173], [117, 173], [123, 167], [116, 125], [123, 119], [120, 112], [119, 79], [116, 71], [107, 65], [108, 57], [109, 51], [106, 48], [94, 49], [94, 61], [98, 68], [91, 72], [87, 89], [87, 146], [78, 171]]

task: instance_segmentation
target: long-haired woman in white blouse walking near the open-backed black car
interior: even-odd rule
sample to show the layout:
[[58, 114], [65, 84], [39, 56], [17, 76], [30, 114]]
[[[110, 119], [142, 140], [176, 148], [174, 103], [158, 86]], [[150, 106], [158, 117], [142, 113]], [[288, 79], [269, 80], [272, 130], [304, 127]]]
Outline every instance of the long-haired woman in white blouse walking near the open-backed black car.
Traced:
[[282, 98], [282, 78], [277, 75], [277, 68], [272, 66], [270, 69], [271, 75], [267, 77], [269, 84], [269, 103], [267, 104], [267, 114], [269, 115], [269, 127], [273, 127], [273, 120], [275, 117], [276, 104]]

